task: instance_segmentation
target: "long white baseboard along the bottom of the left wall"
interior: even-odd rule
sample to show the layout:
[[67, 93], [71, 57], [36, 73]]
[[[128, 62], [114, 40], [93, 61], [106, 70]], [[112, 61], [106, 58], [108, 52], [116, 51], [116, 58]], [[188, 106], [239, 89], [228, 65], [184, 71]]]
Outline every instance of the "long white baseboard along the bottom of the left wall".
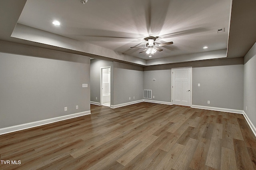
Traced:
[[24, 129], [28, 129], [28, 128], [34, 128], [36, 126], [42, 126], [42, 125], [50, 124], [50, 123], [54, 123], [54, 122], [59, 122], [59, 121], [62, 121], [62, 120], [67, 120], [67, 119], [71, 119], [71, 118], [85, 116], [85, 115], [88, 115], [88, 114], [91, 114], [90, 110], [85, 111], [85, 112], [75, 113], [75, 114], [69, 114], [69, 115], [65, 115], [65, 116], [59, 116], [59, 117], [56, 117], [56, 118], [39, 120], [39, 121], [36, 121], [36, 122], [19, 124], [19, 125], [10, 126], [10, 127], [7, 127], [7, 128], [1, 128], [0, 129], [0, 135], [1, 134], [7, 134], [7, 133], [10, 133], [10, 132], [16, 132], [16, 131], [24, 130]]

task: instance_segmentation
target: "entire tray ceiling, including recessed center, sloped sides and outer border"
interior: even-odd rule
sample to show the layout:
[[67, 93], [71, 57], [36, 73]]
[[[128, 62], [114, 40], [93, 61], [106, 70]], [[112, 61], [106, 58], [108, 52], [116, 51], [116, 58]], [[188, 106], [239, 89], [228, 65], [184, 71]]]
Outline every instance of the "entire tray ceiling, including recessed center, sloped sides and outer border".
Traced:
[[[256, 41], [255, 6], [255, 0], [8, 0], [0, 2], [0, 39], [142, 66], [243, 57]], [[148, 36], [174, 44], [152, 58], [130, 48], [146, 46]]]

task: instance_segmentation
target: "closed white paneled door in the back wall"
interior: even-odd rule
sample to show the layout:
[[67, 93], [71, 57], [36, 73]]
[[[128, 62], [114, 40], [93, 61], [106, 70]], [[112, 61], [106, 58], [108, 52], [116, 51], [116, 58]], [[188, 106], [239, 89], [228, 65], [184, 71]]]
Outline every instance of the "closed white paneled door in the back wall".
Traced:
[[172, 69], [172, 104], [191, 105], [191, 68]]

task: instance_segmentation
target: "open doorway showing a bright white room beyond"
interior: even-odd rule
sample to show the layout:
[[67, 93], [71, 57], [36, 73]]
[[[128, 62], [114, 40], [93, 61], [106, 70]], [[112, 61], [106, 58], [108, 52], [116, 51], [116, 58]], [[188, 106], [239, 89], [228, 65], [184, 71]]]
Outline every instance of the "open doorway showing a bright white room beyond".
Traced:
[[100, 105], [110, 107], [111, 66], [100, 68]]

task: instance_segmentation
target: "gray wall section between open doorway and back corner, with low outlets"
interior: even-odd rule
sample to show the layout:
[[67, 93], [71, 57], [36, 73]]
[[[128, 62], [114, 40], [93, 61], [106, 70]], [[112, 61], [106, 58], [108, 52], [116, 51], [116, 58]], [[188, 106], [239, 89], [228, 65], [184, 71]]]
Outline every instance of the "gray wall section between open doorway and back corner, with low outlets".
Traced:
[[[143, 67], [114, 62], [113, 88], [114, 102], [111, 105], [142, 100]], [[129, 100], [129, 97], [131, 100]]]

